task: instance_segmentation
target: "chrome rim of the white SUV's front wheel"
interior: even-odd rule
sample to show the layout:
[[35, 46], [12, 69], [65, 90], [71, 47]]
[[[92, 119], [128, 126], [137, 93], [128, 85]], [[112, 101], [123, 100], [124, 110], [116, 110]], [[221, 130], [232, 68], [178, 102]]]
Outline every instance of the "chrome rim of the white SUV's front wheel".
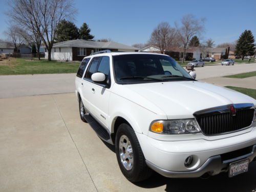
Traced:
[[133, 168], [133, 147], [126, 135], [122, 135], [119, 139], [119, 154], [124, 168], [131, 170]]

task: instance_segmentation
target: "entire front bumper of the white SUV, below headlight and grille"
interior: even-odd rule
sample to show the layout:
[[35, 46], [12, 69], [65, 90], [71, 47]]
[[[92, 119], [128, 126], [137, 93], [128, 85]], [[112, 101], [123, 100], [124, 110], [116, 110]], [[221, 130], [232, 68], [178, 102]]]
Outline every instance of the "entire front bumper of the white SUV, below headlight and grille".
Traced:
[[[161, 141], [144, 134], [137, 134], [146, 163], [166, 177], [200, 177], [205, 173], [217, 175], [228, 169], [230, 162], [256, 156], [256, 127], [241, 135], [216, 140], [196, 139], [182, 141]], [[193, 137], [188, 134], [187, 137]], [[249, 148], [251, 147], [251, 148]], [[243, 153], [235, 153], [231, 158], [223, 155], [246, 148]], [[249, 148], [249, 151], [248, 151]], [[184, 162], [188, 156], [194, 157], [190, 167]]]

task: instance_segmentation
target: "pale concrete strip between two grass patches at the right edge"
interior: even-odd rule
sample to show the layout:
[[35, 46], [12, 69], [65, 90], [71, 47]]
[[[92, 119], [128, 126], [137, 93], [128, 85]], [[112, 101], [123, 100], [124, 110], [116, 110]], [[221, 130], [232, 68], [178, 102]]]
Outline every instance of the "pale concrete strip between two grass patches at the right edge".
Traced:
[[217, 84], [219, 86], [233, 86], [241, 88], [249, 88], [256, 90], [256, 76], [248, 78], [228, 78], [228, 77], [213, 77], [201, 79], [204, 82]]

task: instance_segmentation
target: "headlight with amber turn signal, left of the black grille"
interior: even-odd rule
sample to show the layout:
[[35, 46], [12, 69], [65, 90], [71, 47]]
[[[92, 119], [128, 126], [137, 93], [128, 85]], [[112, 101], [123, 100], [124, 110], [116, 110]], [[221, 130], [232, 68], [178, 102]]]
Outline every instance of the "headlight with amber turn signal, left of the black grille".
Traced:
[[201, 129], [195, 119], [179, 119], [154, 121], [150, 131], [159, 134], [186, 134], [199, 133]]

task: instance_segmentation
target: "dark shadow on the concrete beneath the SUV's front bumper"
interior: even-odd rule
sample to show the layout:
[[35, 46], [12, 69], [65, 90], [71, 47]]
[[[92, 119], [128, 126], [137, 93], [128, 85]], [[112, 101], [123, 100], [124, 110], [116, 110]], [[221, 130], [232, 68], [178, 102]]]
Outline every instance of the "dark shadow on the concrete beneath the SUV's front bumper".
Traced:
[[249, 172], [229, 178], [228, 173], [212, 176], [208, 179], [170, 179], [157, 173], [147, 181], [136, 183], [143, 188], [155, 188], [166, 185], [165, 191], [256, 191], [256, 162], [249, 165]]

